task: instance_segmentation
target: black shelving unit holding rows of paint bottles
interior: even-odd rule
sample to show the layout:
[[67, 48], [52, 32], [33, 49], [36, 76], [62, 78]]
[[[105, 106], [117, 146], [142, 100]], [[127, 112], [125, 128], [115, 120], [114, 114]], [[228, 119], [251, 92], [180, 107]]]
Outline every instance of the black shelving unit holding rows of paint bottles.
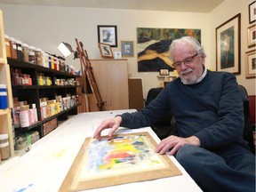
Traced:
[[[16, 97], [19, 100], [28, 100], [28, 104], [35, 103], [37, 109], [37, 116], [40, 119], [41, 111], [40, 111], [40, 99], [47, 97], [49, 100], [55, 100], [57, 95], [61, 95], [61, 97], [66, 97], [68, 94], [76, 95], [77, 85], [55, 85], [55, 78], [78, 78], [79, 76], [72, 75], [66, 72], [61, 72], [58, 70], [54, 70], [51, 68], [44, 68], [41, 66], [37, 66], [35, 64], [30, 64], [27, 62], [23, 62], [20, 60], [14, 60], [11, 58], [7, 58], [10, 68], [12, 69], [20, 69], [22, 73], [29, 74], [32, 79], [32, 85], [12, 85], [12, 96]], [[40, 73], [44, 73], [45, 76], [50, 76], [52, 80], [52, 85], [37, 85], [37, 78]], [[15, 129], [18, 134], [22, 132], [28, 132], [29, 130], [39, 132], [40, 138], [44, 137], [44, 124], [51, 121], [55, 117], [59, 120], [67, 120], [69, 115], [77, 114], [77, 106], [80, 103], [77, 103], [75, 106], [68, 108], [66, 110], [61, 111], [60, 113], [45, 118], [44, 120], [36, 122], [36, 124], [32, 124], [25, 128]]]

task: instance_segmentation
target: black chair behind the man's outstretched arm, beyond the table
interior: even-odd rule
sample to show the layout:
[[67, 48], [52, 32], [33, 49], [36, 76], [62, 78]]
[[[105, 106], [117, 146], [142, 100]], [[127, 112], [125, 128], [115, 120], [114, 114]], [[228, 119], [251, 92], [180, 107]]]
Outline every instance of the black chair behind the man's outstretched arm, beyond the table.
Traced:
[[[152, 88], [148, 91], [147, 100], [145, 106], [155, 100], [157, 95], [162, 92], [164, 88]], [[171, 134], [177, 135], [177, 129], [175, 124], [175, 120], [172, 117], [171, 112], [166, 113], [160, 120], [158, 120], [155, 124], [151, 124], [151, 128], [154, 132], [156, 132], [157, 137], [160, 140], [170, 136]]]

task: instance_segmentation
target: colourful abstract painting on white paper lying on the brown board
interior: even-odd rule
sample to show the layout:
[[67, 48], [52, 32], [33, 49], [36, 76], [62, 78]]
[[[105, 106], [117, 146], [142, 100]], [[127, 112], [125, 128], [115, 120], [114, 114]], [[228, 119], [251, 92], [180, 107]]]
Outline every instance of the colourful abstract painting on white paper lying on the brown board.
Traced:
[[165, 166], [143, 134], [93, 140], [87, 153], [82, 178]]

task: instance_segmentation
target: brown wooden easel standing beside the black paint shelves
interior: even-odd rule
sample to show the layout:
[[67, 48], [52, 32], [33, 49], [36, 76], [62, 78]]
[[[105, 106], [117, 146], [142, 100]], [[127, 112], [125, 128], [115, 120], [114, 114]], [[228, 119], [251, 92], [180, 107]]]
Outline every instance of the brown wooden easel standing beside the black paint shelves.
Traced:
[[[105, 111], [105, 101], [101, 100], [100, 97], [100, 92], [99, 92], [99, 88], [98, 85], [96, 84], [95, 78], [93, 76], [93, 71], [92, 71], [92, 66], [91, 66], [91, 62], [88, 58], [87, 52], [84, 50], [84, 45], [82, 44], [82, 42], [78, 42], [77, 39], [76, 40], [76, 50], [78, 52], [78, 56], [80, 59], [80, 64], [81, 64], [81, 73], [82, 73], [82, 84], [84, 85], [84, 89], [86, 89], [86, 77], [88, 79], [89, 84], [91, 85], [91, 89], [92, 89], [92, 93], [94, 96], [94, 99], [96, 101], [96, 105], [97, 108], [100, 111]], [[85, 71], [85, 73], [84, 73]], [[84, 90], [84, 91], [85, 91]], [[87, 100], [88, 103], [88, 100]]]

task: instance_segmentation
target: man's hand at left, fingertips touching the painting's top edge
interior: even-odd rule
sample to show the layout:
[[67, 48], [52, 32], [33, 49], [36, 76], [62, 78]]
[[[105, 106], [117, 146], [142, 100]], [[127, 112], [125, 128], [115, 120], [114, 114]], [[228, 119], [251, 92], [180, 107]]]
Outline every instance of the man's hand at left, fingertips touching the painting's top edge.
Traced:
[[110, 129], [108, 132], [108, 137], [112, 137], [114, 132], [116, 132], [116, 130], [119, 128], [121, 122], [122, 122], [121, 116], [115, 116], [114, 118], [110, 118], [103, 121], [94, 132], [93, 138], [100, 140], [101, 139], [100, 134], [104, 129]]

